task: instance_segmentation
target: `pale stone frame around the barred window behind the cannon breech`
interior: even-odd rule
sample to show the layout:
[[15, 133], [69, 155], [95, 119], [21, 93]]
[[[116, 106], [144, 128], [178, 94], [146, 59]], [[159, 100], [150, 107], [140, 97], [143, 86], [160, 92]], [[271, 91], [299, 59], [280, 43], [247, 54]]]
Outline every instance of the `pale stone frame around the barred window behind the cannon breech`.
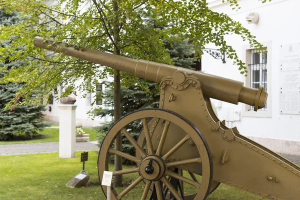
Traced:
[[[266, 63], [266, 90], [268, 93], [267, 96], [267, 109], [266, 110], [251, 110], [250, 105], [243, 104], [241, 109], [241, 116], [248, 116], [248, 117], [271, 117], [271, 60], [272, 60], [272, 46], [271, 41], [260, 42], [267, 50], [267, 63]], [[249, 64], [251, 63], [251, 50], [255, 49], [254, 47], [250, 47], [249, 44], [245, 44], [242, 46], [242, 61], [245, 62], [245, 66], [248, 70], [248, 75], [243, 77], [243, 82], [245, 86], [250, 86], [251, 80], [250, 75], [251, 73]]]

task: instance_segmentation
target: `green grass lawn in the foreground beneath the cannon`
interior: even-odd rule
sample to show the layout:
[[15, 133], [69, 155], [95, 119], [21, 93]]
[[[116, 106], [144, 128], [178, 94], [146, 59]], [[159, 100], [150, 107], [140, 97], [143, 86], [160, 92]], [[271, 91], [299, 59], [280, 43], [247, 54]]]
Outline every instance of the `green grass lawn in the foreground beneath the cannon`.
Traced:
[[[76, 152], [75, 158], [58, 158], [58, 153], [0, 156], [0, 199], [104, 200], [98, 182], [97, 153], [94, 151], [89, 151], [88, 161], [85, 162], [85, 170], [90, 175], [88, 184], [81, 188], [65, 187], [65, 183], [82, 169], [79, 155], [80, 152]], [[130, 166], [124, 168], [128, 167]], [[109, 170], [113, 170], [112, 165], [109, 166]], [[137, 176], [137, 173], [126, 174], [123, 180], [130, 183]], [[139, 183], [122, 199], [138, 199], [143, 187], [144, 183]], [[207, 200], [240, 199], [261, 200], [262, 198], [223, 184], [207, 198]]]

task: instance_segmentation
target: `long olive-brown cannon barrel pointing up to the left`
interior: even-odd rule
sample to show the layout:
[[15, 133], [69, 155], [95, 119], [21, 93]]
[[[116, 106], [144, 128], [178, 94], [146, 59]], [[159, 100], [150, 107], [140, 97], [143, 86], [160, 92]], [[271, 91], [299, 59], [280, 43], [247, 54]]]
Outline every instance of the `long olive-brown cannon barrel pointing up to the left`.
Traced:
[[64, 43], [48, 42], [41, 37], [34, 38], [34, 45], [50, 51], [61, 52], [72, 57], [126, 71], [155, 82], [160, 82], [163, 77], [171, 76], [176, 70], [182, 70], [189, 75], [196, 76], [201, 82], [201, 89], [204, 95], [210, 98], [234, 104], [238, 102], [246, 103], [253, 105], [254, 110], [264, 107], [266, 102], [267, 93], [263, 91], [262, 86], [260, 86], [259, 89], [245, 87], [243, 86], [243, 82], [216, 75], [142, 59], [132, 59], [88, 48], [75, 49], [72, 46], [65, 46]]

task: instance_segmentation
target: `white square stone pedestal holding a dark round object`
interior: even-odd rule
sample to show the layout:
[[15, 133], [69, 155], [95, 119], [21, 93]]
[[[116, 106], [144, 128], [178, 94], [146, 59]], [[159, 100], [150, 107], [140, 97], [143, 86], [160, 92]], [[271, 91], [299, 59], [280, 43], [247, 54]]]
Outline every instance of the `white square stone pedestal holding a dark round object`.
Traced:
[[75, 157], [76, 107], [59, 104], [59, 157]]

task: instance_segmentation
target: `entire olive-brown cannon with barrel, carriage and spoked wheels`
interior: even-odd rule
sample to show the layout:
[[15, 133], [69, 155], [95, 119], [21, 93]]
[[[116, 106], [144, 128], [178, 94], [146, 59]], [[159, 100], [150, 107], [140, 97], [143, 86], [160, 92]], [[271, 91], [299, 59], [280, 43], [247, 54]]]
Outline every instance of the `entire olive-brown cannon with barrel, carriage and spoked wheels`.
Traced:
[[[77, 49], [36, 37], [34, 45], [119, 69], [160, 83], [159, 107], [121, 117], [105, 134], [98, 155], [98, 175], [108, 170], [108, 157], [118, 155], [136, 167], [113, 171], [135, 177], [125, 188], [111, 187], [111, 199], [203, 200], [220, 183], [268, 199], [299, 199], [300, 167], [228, 128], [213, 112], [210, 98], [254, 106], [265, 105], [267, 93], [242, 82], [168, 64], [137, 60], [92, 49]], [[140, 123], [135, 140], [127, 125]], [[135, 148], [129, 155], [113, 148], [117, 134]], [[124, 178], [125, 179], [125, 178]], [[106, 186], [102, 190], [106, 195]], [[132, 199], [129, 198], [129, 199]]]

